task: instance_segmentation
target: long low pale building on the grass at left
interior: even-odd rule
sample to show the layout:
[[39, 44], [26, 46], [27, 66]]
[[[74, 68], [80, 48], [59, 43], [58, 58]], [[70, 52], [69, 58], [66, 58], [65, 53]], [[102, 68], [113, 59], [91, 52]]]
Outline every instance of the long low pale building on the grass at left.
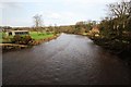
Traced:
[[29, 32], [28, 30], [8, 30], [5, 35], [7, 36], [29, 35]]

